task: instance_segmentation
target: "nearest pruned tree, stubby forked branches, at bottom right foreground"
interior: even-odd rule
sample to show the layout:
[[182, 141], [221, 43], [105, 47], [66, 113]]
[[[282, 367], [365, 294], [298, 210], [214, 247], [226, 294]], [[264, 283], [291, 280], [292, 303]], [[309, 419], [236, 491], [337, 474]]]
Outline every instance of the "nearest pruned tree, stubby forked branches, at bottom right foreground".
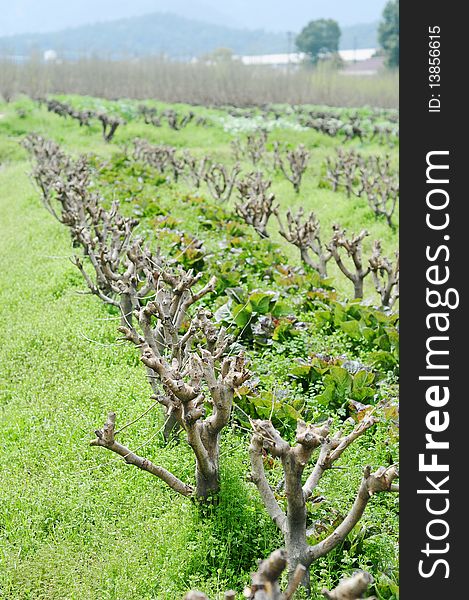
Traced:
[[[292, 446], [282, 438], [271, 421], [252, 421], [254, 433], [251, 438], [251, 479], [270, 517], [280, 529], [288, 559], [290, 580], [296, 567], [309, 569], [318, 558], [328, 554], [340, 544], [362, 517], [365, 508], [377, 492], [398, 491], [394, 480], [398, 476], [394, 466], [380, 467], [375, 472], [367, 466], [358, 486], [357, 495], [345, 519], [326, 538], [314, 545], [308, 543], [312, 531], [308, 530], [307, 502], [311, 501], [321, 477], [342, 456], [344, 451], [365, 431], [375, 424], [373, 416], [367, 415], [354, 429], [344, 434], [331, 434], [332, 421], [320, 425], [308, 425], [298, 421], [295, 444]], [[315, 462], [310, 463], [315, 451]], [[264, 454], [280, 459], [285, 478], [286, 507], [276, 497], [265, 471]], [[308, 575], [305, 576], [308, 586]]]

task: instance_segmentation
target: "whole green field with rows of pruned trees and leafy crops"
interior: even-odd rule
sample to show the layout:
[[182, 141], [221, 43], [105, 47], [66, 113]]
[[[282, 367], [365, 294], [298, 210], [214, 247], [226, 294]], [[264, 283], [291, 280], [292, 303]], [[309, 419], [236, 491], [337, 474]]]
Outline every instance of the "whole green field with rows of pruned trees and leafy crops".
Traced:
[[0, 598], [242, 598], [280, 547], [398, 597], [398, 133], [0, 104]]

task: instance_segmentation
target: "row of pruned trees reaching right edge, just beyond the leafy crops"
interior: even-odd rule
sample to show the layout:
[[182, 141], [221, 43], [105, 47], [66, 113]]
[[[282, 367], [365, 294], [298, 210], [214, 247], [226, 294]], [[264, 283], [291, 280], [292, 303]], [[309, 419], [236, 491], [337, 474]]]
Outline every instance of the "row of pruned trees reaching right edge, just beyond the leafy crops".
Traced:
[[[252, 144], [257, 142], [253, 141]], [[299, 185], [307, 161], [304, 147], [300, 145], [296, 150], [287, 152], [289, 171], [282, 162], [280, 153], [278, 156], [277, 160], [281, 161], [285, 176], [294, 186]], [[330, 239], [323, 240], [317, 215], [311, 212], [305, 216], [302, 208], [296, 214], [288, 211], [284, 221], [271, 189], [272, 181], [264, 178], [261, 171], [253, 171], [241, 177], [239, 163], [230, 170], [221, 163], [211, 162], [207, 156], [196, 158], [188, 150], [178, 156], [172, 146], [154, 145], [142, 139], [134, 140], [133, 157], [146, 162], [160, 174], [170, 170], [175, 181], [182, 176], [196, 188], [200, 188], [203, 182], [206, 183], [212, 197], [221, 202], [227, 202], [236, 190], [238, 194], [235, 201], [236, 213], [261, 237], [269, 237], [267, 225], [274, 215], [279, 223], [280, 235], [298, 248], [304, 264], [315, 269], [321, 277], [327, 277], [328, 263], [332, 259], [353, 285], [354, 298], [364, 297], [364, 281], [366, 277], [371, 276], [382, 306], [391, 308], [397, 302], [399, 298], [398, 252], [395, 259], [391, 260], [383, 255], [381, 242], [375, 240], [370, 256], [364, 259], [363, 240], [369, 235], [366, 230], [347, 236], [344, 228], [334, 225]], [[384, 164], [388, 165], [386, 159]], [[378, 159], [376, 166], [379, 169], [388, 168], [388, 166], [383, 167]]]

